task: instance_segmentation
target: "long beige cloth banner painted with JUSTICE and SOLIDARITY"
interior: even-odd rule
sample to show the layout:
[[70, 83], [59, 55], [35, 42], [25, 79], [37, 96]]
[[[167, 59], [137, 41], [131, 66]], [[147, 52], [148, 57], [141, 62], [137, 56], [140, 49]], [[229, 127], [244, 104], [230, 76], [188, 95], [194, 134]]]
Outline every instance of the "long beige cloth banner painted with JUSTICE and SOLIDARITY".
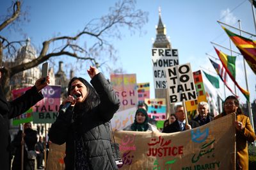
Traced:
[[[235, 114], [230, 114], [202, 127], [172, 134], [116, 131], [115, 140], [124, 163], [119, 168], [235, 169], [235, 119]], [[63, 157], [63, 151], [53, 150], [48, 158], [50, 169], [56, 169], [54, 164]]]

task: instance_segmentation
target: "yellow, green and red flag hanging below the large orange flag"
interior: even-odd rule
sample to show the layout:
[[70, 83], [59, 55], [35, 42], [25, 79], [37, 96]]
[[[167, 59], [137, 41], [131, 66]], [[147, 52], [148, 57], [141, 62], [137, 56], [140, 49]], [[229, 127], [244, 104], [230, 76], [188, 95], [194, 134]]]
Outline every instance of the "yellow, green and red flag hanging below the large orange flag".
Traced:
[[[236, 59], [234, 59], [233, 56], [227, 56], [227, 54], [224, 54], [223, 52], [216, 49], [215, 47], [214, 47], [214, 49], [216, 50], [216, 53], [218, 54], [220, 61], [223, 65], [223, 67], [225, 68], [226, 72], [228, 73], [230, 79], [232, 79], [234, 84], [236, 84], [237, 88], [243, 93], [246, 100], [250, 100], [250, 93], [248, 91], [246, 91], [245, 89], [241, 88], [241, 86], [239, 86], [239, 84], [236, 82], [236, 65], [235, 65]], [[231, 58], [230, 59], [231, 61], [228, 61], [228, 57]], [[233, 57], [233, 59], [232, 59], [232, 57]]]

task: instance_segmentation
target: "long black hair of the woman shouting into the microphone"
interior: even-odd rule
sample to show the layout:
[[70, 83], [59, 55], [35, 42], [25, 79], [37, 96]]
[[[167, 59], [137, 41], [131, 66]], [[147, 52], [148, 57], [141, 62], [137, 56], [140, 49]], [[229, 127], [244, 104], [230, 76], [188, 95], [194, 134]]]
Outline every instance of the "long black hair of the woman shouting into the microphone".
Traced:
[[83, 102], [83, 107], [85, 109], [86, 112], [90, 111], [93, 107], [97, 106], [100, 103], [100, 98], [98, 93], [96, 92], [96, 90], [93, 88], [93, 86], [91, 84], [89, 84], [88, 81], [86, 81], [85, 79], [83, 79], [82, 77], [73, 77], [70, 82], [68, 82], [68, 91], [67, 91], [67, 95], [70, 95], [70, 88], [71, 88], [71, 84], [72, 82], [79, 80], [81, 82], [83, 82], [84, 86], [86, 86], [87, 89], [87, 97], [85, 98], [84, 102]]

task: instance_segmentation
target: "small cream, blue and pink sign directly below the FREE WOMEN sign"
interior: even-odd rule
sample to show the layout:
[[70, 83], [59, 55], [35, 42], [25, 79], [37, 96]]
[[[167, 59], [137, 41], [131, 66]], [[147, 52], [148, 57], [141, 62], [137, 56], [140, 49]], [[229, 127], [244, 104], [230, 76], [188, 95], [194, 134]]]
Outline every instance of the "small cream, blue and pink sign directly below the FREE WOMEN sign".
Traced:
[[148, 117], [154, 120], [166, 120], [166, 99], [165, 98], [145, 98], [148, 105]]

